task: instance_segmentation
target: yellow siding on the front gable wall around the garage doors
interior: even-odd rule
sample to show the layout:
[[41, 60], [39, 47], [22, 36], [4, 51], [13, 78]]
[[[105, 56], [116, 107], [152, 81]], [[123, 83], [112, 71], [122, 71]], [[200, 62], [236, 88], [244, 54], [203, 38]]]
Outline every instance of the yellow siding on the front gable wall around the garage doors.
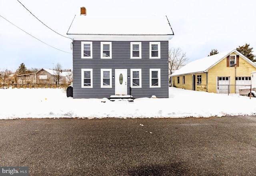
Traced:
[[[236, 55], [235, 53], [232, 53]], [[230, 77], [230, 84], [235, 85], [235, 75], [251, 76], [251, 72], [256, 71], [256, 68], [239, 57], [239, 66], [227, 67], [227, 58], [224, 58], [217, 65], [208, 70], [208, 92], [216, 93], [216, 84], [218, 77]], [[235, 92], [235, 86], [230, 86], [230, 93]]]

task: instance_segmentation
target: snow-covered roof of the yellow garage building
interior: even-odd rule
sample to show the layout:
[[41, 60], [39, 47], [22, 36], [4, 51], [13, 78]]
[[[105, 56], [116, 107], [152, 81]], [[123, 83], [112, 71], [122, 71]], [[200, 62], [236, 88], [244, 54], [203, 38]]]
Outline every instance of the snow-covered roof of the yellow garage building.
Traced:
[[242, 57], [244, 60], [246, 60], [250, 64], [252, 64], [254, 67], [256, 67], [256, 65], [251, 60], [246, 58], [243, 54], [241, 54], [237, 50], [228, 50], [226, 52], [221, 52], [212, 56], [208, 56], [202, 59], [192, 61], [186, 64], [185, 66], [183, 66], [182, 68], [180, 68], [179, 70], [176, 70], [170, 76], [172, 77], [172, 76], [179, 76], [184, 74], [197, 74], [197, 73], [208, 72], [210, 68], [218, 64], [221, 60], [223, 60], [233, 52], [239, 55], [240, 57]]

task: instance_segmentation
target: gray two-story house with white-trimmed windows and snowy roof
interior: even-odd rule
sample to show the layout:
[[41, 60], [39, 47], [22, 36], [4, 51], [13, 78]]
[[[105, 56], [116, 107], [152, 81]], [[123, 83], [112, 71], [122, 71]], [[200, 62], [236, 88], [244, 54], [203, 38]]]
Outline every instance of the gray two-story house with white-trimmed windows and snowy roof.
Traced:
[[168, 98], [168, 41], [174, 36], [166, 16], [75, 16], [73, 98]]

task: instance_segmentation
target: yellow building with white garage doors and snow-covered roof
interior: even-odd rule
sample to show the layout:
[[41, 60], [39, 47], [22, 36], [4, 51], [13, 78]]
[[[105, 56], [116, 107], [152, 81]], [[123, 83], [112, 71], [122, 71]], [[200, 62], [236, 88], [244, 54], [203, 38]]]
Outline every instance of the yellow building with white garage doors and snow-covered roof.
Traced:
[[171, 74], [172, 86], [214, 93], [239, 93], [251, 84], [256, 64], [237, 50], [229, 50], [186, 64]]

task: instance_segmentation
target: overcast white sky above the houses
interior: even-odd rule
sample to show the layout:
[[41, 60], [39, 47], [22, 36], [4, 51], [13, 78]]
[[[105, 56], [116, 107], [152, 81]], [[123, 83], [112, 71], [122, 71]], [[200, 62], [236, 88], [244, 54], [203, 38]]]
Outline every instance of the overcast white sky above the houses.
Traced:
[[[180, 47], [189, 59], [206, 57], [245, 43], [256, 50], [255, 0], [19, 0], [30, 12], [56, 32], [66, 36], [75, 15], [84, 6], [89, 16], [166, 15], [174, 31], [170, 47]], [[44, 26], [17, 0], [0, 0], [0, 15], [32, 36], [72, 53], [72, 40]], [[0, 69], [52, 68], [59, 62], [72, 69], [72, 54], [61, 52], [0, 17]], [[256, 54], [256, 52], [254, 52]]]

